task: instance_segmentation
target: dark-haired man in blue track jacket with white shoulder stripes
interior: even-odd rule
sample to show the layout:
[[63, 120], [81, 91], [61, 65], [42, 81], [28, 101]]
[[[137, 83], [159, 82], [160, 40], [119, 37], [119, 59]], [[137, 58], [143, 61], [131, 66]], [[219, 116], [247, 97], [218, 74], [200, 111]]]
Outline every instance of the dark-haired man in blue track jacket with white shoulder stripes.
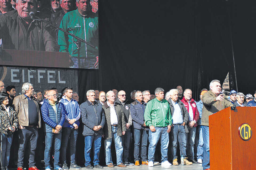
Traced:
[[73, 99], [73, 89], [66, 87], [64, 90], [65, 98], [59, 100], [63, 103], [66, 110], [65, 122], [62, 130], [62, 142], [61, 142], [61, 163], [62, 168], [69, 169], [66, 163], [67, 143], [70, 141], [70, 168], [81, 169], [75, 163], [75, 147], [78, 136], [79, 118], [81, 115], [79, 104]]

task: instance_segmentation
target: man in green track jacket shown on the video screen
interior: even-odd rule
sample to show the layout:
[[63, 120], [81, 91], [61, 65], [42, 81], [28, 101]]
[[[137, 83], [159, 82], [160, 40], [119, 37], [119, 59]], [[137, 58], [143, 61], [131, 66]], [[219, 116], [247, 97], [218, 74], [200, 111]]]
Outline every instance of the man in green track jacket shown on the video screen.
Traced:
[[76, 0], [77, 10], [67, 12], [67, 14], [63, 16], [59, 26], [65, 31], [78, 36], [95, 47], [94, 48], [83, 42], [81, 43], [81, 47], [79, 49], [80, 65], [78, 65], [78, 49], [74, 43], [77, 39], [59, 31], [59, 52], [69, 53], [71, 68], [98, 68], [98, 14], [95, 14], [88, 9], [88, 3], [90, 3], [89, 0]]

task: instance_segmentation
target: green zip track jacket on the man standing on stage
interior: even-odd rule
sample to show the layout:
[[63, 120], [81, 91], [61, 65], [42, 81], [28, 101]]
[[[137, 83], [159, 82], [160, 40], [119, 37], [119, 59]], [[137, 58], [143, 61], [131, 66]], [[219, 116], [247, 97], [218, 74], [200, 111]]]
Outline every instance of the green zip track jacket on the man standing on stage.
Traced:
[[168, 101], [159, 101], [156, 98], [147, 103], [144, 118], [147, 126], [166, 127], [171, 125], [173, 119]]

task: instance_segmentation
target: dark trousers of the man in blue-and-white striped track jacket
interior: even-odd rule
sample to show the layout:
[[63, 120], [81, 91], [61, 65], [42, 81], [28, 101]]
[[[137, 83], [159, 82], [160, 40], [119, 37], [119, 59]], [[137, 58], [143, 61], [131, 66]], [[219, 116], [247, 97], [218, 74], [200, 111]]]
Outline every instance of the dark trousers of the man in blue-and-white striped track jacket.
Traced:
[[67, 143], [70, 139], [70, 163], [75, 163], [75, 147], [77, 143], [78, 129], [62, 128], [61, 162], [66, 163]]

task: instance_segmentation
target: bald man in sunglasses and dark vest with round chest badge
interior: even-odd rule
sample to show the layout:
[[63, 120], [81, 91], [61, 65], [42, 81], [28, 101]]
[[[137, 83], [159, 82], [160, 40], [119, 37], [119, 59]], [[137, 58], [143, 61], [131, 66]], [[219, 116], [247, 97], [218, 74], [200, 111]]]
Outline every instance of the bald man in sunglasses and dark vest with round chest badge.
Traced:
[[130, 114], [130, 104], [126, 100], [126, 93], [123, 90], [120, 90], [117, 94], [118, 100], [116, 100], [116, 104], [119, 104], [125, 113], [125, 122], [126, 122], [126, 133], [122, 135], [122, 146], [123, 146], [123, 162], [125, 165], [134, 165], [128, 161], [129, 156], [129, 147], [131, 140], [131, 129], [132, 119]]

